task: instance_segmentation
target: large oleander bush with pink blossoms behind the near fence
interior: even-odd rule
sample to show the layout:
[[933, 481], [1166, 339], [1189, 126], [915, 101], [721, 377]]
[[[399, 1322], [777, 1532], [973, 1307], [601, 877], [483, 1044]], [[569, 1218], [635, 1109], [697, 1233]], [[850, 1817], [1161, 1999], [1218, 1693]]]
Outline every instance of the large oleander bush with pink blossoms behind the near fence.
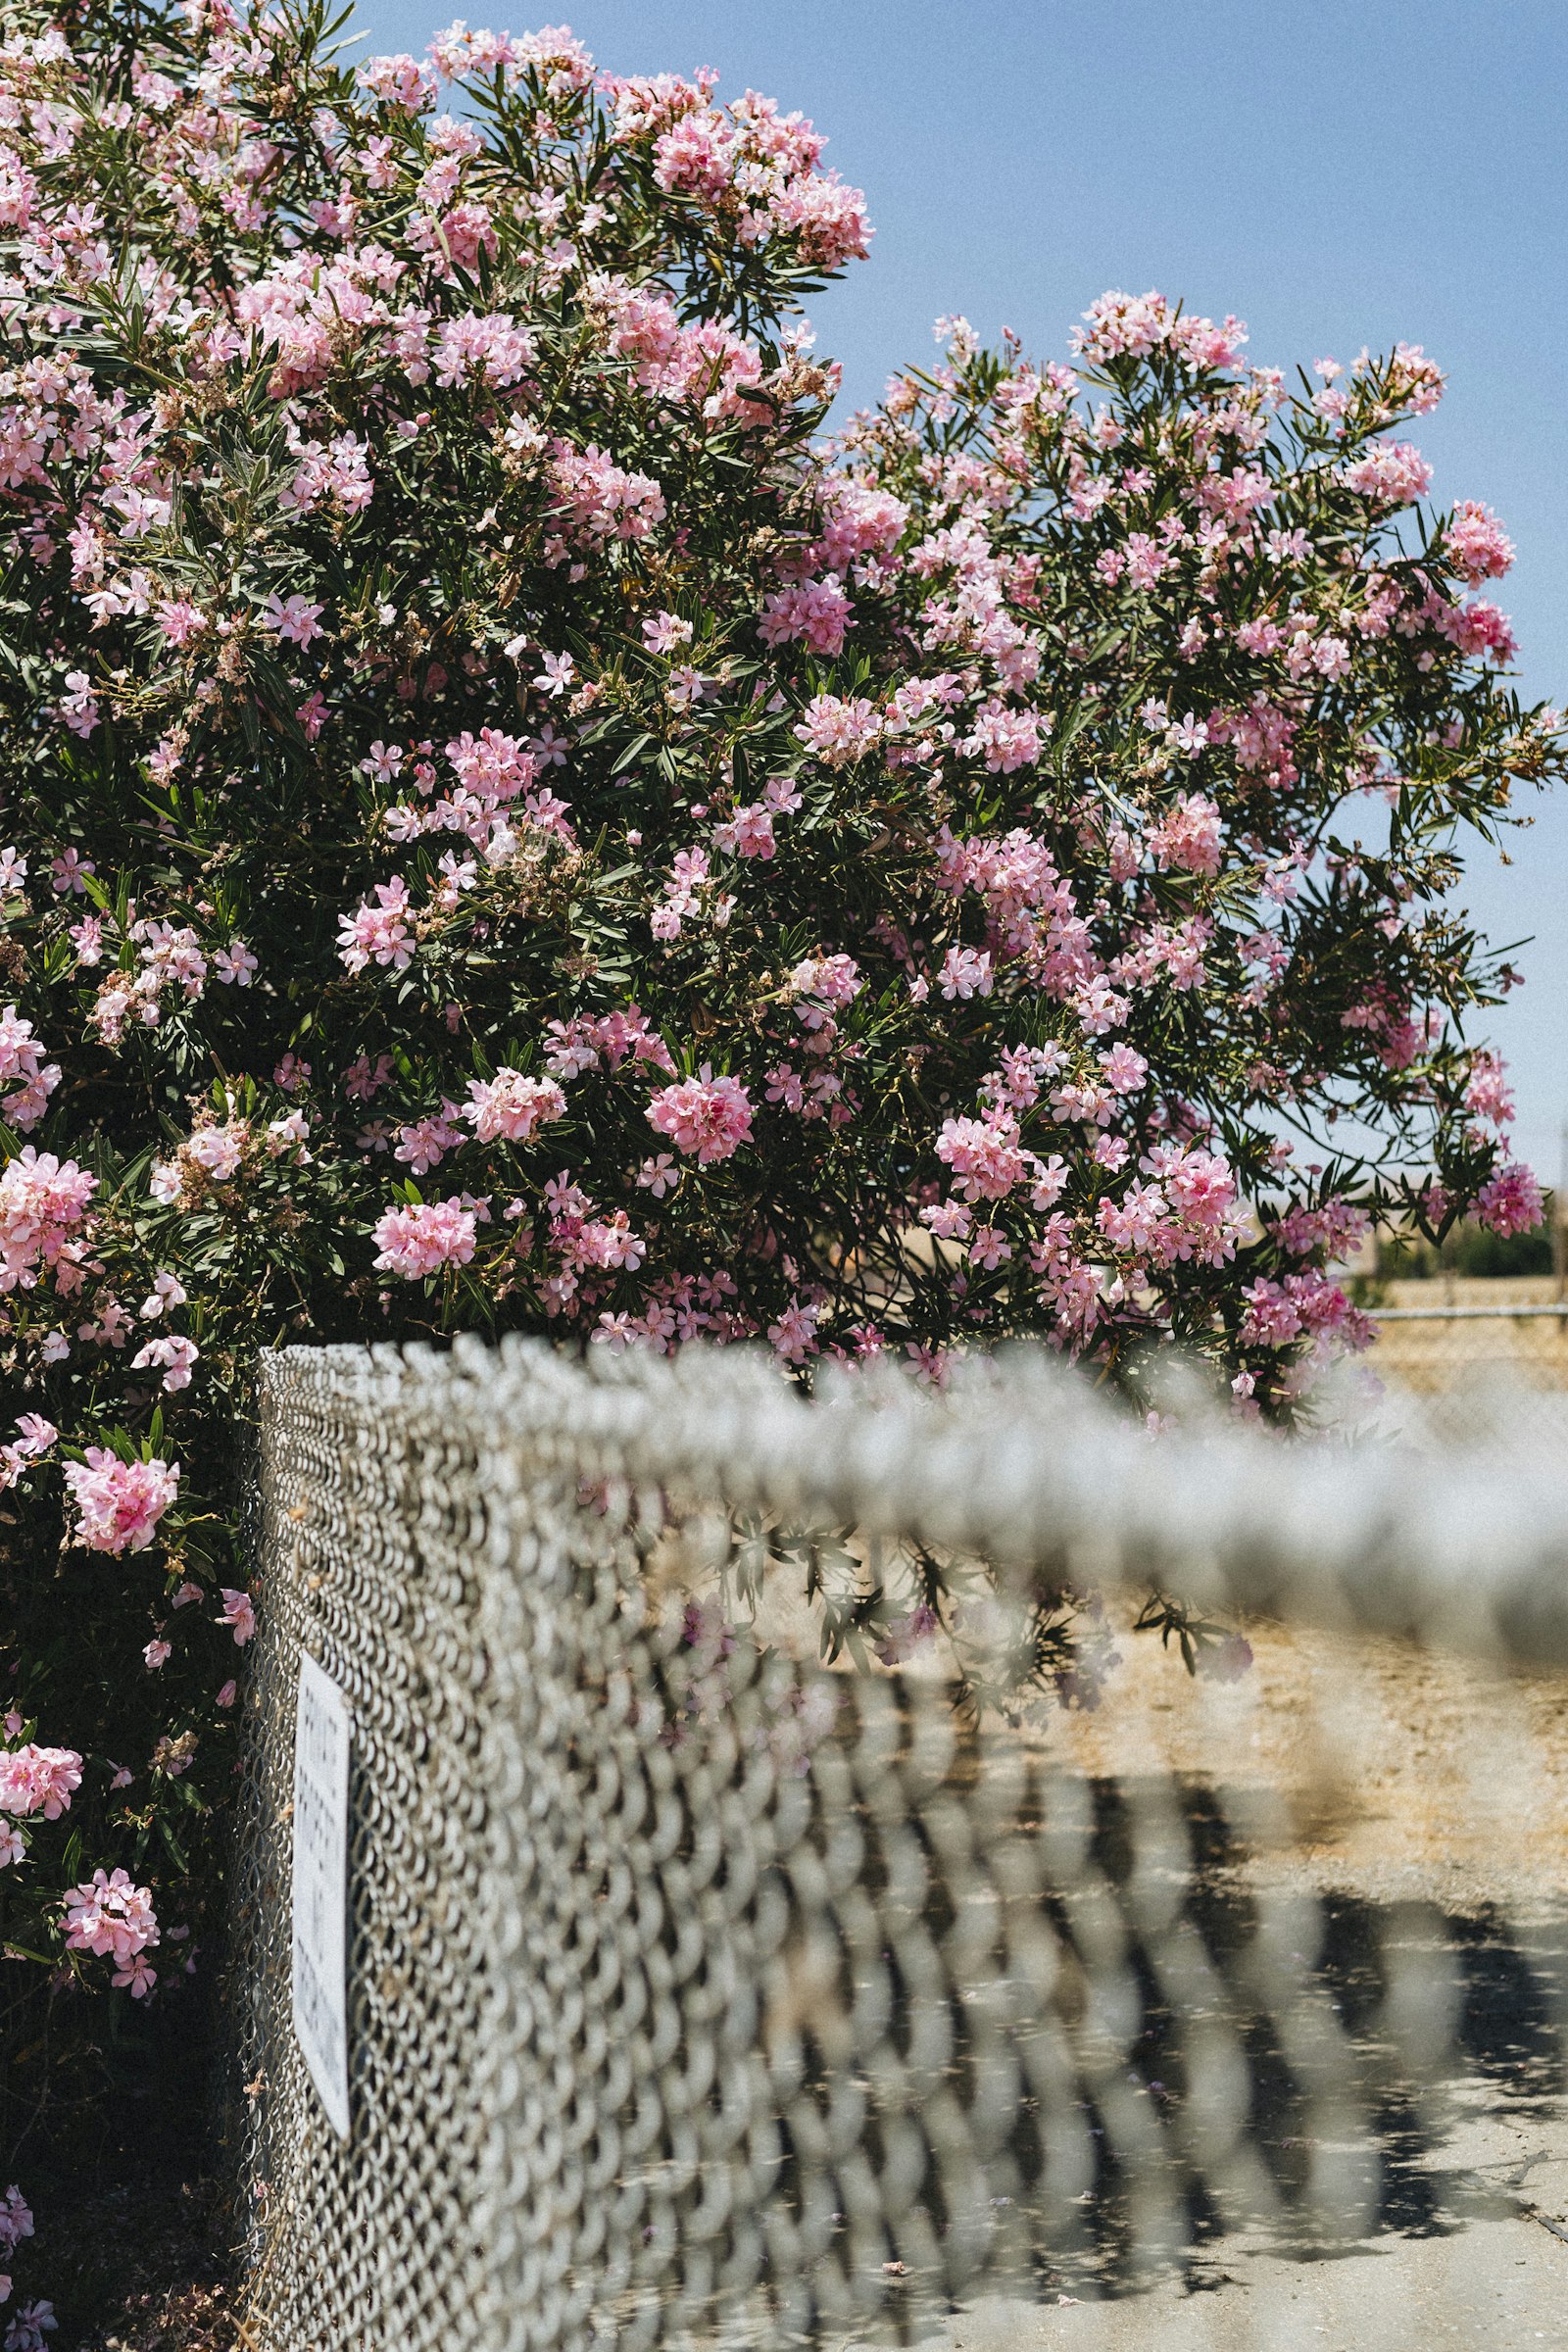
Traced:
[[1368, 1218], [1540, 1216], [1453, 884], [1566, 739], [1415, 348], [1107, 294], [827, 442], [865, 205], [755, 92], [5, 26], [0, 1917], [24, 2006], [162, 2002], [261, 1345], [1041, 1334], [1309, 1416]]

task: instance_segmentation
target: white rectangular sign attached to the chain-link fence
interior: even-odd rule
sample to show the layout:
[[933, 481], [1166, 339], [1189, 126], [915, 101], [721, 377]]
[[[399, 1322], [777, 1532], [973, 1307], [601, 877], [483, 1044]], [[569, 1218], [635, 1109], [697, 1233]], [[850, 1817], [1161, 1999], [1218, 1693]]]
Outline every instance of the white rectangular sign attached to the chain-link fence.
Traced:
[[348, 2138], [348, 1700], [299, 1656], [294, 1717], [294, 2032]]

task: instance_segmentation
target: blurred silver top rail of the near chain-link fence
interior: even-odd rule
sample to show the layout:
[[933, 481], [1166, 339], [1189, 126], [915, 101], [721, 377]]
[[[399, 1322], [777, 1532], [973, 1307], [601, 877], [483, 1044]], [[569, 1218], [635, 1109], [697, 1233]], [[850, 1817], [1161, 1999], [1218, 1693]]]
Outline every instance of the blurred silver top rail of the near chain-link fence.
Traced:
[[816, 1399], [736, 1348], [583, 1362], [538, 1341], [461, 1338], [451, 1352], [263, 1359], [268, 1414], [310, 1397], [414, 1444], [458, 1437], [510, 1491], [541, 1475], [548, 1446], [581, 1479], [860, 1526], [1079, 1590], [1157, 1583], [1201, 1609], [1568, 1665], [1561, 1449], [1425, 1454], [1222, 1418], [1152, 1439], [1030, 1348], [961, 1371], [940, 1397], [872, 1369], [825, 1376]]

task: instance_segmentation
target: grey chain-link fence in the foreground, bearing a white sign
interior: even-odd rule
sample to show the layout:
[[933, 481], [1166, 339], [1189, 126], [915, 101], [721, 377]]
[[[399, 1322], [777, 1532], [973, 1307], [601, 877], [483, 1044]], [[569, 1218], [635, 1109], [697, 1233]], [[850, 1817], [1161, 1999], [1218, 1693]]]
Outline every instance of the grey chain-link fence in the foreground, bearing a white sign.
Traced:
[[1561, 1465], [1152, 1444], [1032, 1357], [289, 1350], [263, 1519], [252, 2345], [1556, 2340]]

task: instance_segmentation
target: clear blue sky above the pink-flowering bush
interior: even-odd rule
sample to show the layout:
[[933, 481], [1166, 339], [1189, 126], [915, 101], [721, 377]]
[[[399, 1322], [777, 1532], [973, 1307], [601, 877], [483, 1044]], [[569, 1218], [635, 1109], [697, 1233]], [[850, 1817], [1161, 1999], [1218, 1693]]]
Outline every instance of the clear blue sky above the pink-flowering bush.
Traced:
[[[477, 0], [470, 0], [477, 5]], [[1291, 369], [1425, 343], [1448, 397], [1415, 437], [1434, 499], [1486, 499], [1519, 562], [1521, 687], [1568, 703], [1566, 0], [555, 0], [621, 73], [717, 66], [799, 106], [867, 191], [872, 259], [818, 296], [846, 402], [929, 358], [931, 320], [1016, 327], [1037, 358], [1105, 287], [1237, 310]], [[447, 12], [362, 0], [369, 49]], [[477, 14], [510, 31], [545, 19]], [[1460, 894], [1528, 985], [1490, 1018], [1519, 1150], [1568, 1120], [1568, 795], [1528, 795], [1514, 863]]]

